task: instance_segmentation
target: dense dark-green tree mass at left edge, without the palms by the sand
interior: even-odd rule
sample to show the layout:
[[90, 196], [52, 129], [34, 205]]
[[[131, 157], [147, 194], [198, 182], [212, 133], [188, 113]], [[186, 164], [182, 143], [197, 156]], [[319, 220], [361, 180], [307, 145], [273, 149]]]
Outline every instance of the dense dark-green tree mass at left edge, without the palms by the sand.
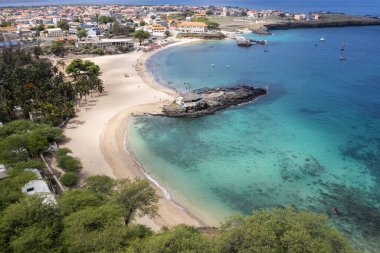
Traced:
[[27, 49], [0, 52], [0, 121], [36, 119], [53, 125], [74, 115], [74, 89], [62, 72]]

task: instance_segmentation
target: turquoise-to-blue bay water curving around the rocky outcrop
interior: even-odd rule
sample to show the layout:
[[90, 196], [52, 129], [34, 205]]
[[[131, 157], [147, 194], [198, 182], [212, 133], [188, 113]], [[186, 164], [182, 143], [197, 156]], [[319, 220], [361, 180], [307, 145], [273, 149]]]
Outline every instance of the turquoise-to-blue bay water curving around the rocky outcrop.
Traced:
[[199, 119], [135, 118], [130, 148], [201, 217], [293, 205], [329, 215], [357, 245], [380, 251], [380, 27], [250, 36], [269, 44], [194, 43], [147, 65], [182, 90], [244, 83], [268, 87], [267, 96]]

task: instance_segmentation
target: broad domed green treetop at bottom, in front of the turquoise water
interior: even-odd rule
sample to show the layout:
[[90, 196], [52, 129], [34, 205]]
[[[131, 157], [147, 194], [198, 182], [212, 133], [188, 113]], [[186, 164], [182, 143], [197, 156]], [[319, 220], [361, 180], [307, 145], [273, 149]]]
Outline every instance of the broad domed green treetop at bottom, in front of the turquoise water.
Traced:
[[320, 214], [275, 208], [227, 220], [219, 230], [219, 252], [353, 252], [349, 242]]

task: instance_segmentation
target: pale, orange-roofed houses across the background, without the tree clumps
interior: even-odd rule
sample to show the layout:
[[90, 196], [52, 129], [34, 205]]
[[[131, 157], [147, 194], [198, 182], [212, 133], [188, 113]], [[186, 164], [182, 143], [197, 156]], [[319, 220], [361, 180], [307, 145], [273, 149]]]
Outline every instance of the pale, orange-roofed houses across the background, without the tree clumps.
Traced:
[[[186, 13], [185, 17], [183, 14]], [[182, 16], [181, 16], [182, 15]], [[21, 45], [20, 41], [75, 41], [81, 45], [127, 45], [129, 40], [104, 40], [112, 22], [98, 22], [99, 17], [110, 17], [122, 26], [142, 29], [153, 36], [178, 33], [207, 33], [204, 22], [192, 22], [207, 15], [244, 16], [252, 19], [292, 17], [294, 20], [318, 20], [319, 14], [290, 14], [278, 10], [250, 10], [216, 6], [126, 6], [75, 5], [0, 8], [0, 47]], [[178, 18], [182, 17], [182, 18]], [[62, 22], [66, 26], [62, 27]], [[86, 38], [78, 38], [78, 29], [86, 31]], [[87, 42], [81, 40], [89, 40]], [[4, 42], [4, 43], [1, 43]]]

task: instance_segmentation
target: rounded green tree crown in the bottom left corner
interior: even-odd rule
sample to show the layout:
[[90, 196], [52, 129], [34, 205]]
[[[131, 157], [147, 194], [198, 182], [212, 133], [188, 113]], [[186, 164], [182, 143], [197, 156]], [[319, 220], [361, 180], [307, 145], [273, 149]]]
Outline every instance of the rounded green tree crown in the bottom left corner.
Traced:
[[27, 196], [8, 206], [0, 217], [0, 252], [54, 252], [61, 227], [56, 205]]

